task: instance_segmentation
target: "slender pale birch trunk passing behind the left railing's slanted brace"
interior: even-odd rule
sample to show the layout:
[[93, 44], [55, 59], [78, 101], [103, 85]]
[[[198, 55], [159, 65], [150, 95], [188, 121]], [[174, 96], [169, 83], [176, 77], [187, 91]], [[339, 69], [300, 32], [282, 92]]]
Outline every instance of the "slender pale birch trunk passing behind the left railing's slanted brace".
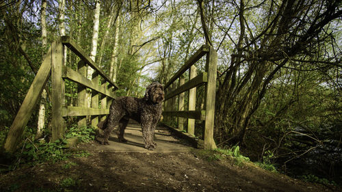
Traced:
[[[40, 20], [42, 25], [42, 60], [45, 56], [45, 49], [47, 48], [47, 1], [42, 0], [42, 9], [40, 10]], [[36, 139], [42, 137], [43, 128], [45, 124], [45, 102], [47, 100], [47, 91], [43, 90], [40, 98], [39, 112], [38, 112], [38, 123], [37, 123], [37, 133]]]

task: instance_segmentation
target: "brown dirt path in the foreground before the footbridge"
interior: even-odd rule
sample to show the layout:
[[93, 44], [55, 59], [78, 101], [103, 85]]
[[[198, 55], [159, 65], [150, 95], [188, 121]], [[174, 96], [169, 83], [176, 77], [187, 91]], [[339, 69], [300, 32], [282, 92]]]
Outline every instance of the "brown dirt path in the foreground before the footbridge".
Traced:
[[0, 191], [341, 191], [216, 151], [113, 152], [100, 146], [82, 143], [69, 149], [83, 154], [78, 157], [2, 174]]

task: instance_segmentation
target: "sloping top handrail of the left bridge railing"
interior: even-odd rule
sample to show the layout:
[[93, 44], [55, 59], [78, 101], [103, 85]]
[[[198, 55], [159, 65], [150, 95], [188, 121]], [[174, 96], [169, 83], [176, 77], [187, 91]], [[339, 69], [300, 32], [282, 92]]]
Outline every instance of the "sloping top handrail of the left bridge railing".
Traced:
[[96, 64], [90, 57], [86, 54], [81, 47], [76, 44], [69, 36], [62, 36], [62, 43], [67, 46], [71, 51], [73, 51], [79, 58], [86, 61], [88, 65], [90, 65], [94, 70], [98, 72], [98, 74], [103, 77], [106, 81], [108, 81], [113, 87], [114, 90], [118, 90], [118, 86], [112, 81], [105, 72], [101, 68], [98, 67], [98, 64]]

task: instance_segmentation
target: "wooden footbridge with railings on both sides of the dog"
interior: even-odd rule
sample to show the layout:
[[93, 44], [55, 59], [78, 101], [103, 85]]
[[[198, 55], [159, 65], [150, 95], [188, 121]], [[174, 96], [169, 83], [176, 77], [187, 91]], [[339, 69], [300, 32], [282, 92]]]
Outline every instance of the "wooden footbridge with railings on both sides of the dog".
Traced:
[[[70, 49], [77, 55], [80, 61], [77, 64], [77, 70], [66, 66], [64, 64], [64, 49]], [[194, 64], [204, 57], [206, 57], [205, 72], [196, 74], [196, 67]], [[215, 87], [216, 87], [216, 63], [217, 53], [211, 46], [203, 45], [200, 47], [192, 57], [185, 62], [181, 69], [174, 74], [174, 76], [166, 83], [166, 100], [163, 109], [163, 122], [177, 121], [178, 128], [173, 128], [175, 133], [184, 136], [194, 143], [196, 146], [203, 146], [207, 149], [216, 148], [213, 140], [213, 119], [215, 114]], [[90, 66], [94, 69], [92, 80], [87, 79], [86, 70]], [[185, 83], [185, 72], [189, 70], [189, 81]], [[29, 87], [29, 91], [25, 96], [23, 104], [19, 109], [16, 118], [12, 123], [8, 137], [5, 141], [5, 150], [7, 152], [14, 152], [22, 141], [24, 128], [31, 117], [34, 107], [37, 105], [40, 94], [44, 89], [47, 81], [51, 77], [51, 126], [52, 126], [52, 140], [61, 139], [64, 137], [66, 129], [64, 118], [75, 116], [78, 117], [78, 126], [86, 126], [86, 117], [90, 116], [91, 125], [96, 127], [99, 120], [103, 120], [105, 115], [109, 113], [109, 106], [112, 100], [116, 98], [115, 91], [118, 86], [98, 67], [90, 57], [68, 36], [62, 36], [51, 44], [51, 47], [42, 61], [42, 65], [36, 74], [34, 81]], [[77, 83], [77, 107], [66, 106], [65, 101], [65, 79]], [[172, 85], [172, 86], [171, 86]], [[202, 109], [196, 110], [196, 87], [205, 86], [205, 99]], [[86, 89], [92, 90], [91, 107], [87, 107]], [[189, 90], [189, 98], [187, 105], [185, 105], [184, 95]], [[187, 109], [187, 111], [185, 111]], [[176, 117], [176, 118], [174, 118]], [[187, 120], [187, 128], [184, 124]], [[202, 138], [195, 137], [195, 120], [202, 122]], [[131, 129], [131, 130], [130, 130]], [[157, 128], [157, 131], [161, 128]], [[134, 131], [135, 130], [135, 131]], [[139, 131], [135, 128], [127, 128], [127, 135], [139, 135]], [[158, 135], [158, 134], [156, 134]], [[159, 134], [160, 135], [160, 134]], [[186, 150], [175, 141], [170, 140], [170, 135], [164, 134], [164, 141], [159, 150]], [[130, 137], [130, 136], [128, 136]], [[141, 135], [140, 135], [141, 137]], [[158, 139], [158, 136], [156, 136]], [[168, 138], [167, 138], [168, 137]], [[137, 137], [135, 137], [136, 139]], [[130, 138], [128, 138], [130, 140]], [[140, 138], [142, 140], [142, 138]], [[135, 147], [140, 147], [140, 139], [133, 141]], [[172, 139], [171, 139], [172, 140]], [[112, 141], [116, 141], [112, 139]], [[163, 142], [161, 142], [163, 143]], [[173, 143], [173, 144], [172, 144]], [[116, 147], [114, 147], [116, 146]], [[122, 146], [116, 143], [111, 145], [111, 150], [120, 151], [125, 149], [134, 151], [136, 148], [130, 148], [129, 143]], [[163, 147], [162, 147], [163, 146]]]

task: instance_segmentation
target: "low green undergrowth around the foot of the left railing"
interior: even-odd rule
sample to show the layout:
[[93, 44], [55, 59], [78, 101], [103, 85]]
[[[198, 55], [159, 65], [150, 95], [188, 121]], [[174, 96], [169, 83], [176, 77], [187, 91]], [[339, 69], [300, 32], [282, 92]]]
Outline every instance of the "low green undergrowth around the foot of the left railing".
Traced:
[[[94, 140], [94, 129], [89, 126], [78, 128], [73, 126], [67, 128], [65, 138], [56, 141], [46, 142], [44, 139], [34, 140], [34, 133], [30, 130], [25, 133], [25, 140], [21, 148], [13, 154], [1, 154], [0, 172], [8, 172], [17, 169], [19, 166], [33, 166], [43, 162], [55, 163], [64, 161], [70, 156], [89, 156], [86, 151], [72, 151], [66, 148], [66, 139], [77, 137], [79, 142], [85, 143]], [[0, 139], [5, 139], [0, 135]], [[4, 141], [1, 143], [4, 143]]]

